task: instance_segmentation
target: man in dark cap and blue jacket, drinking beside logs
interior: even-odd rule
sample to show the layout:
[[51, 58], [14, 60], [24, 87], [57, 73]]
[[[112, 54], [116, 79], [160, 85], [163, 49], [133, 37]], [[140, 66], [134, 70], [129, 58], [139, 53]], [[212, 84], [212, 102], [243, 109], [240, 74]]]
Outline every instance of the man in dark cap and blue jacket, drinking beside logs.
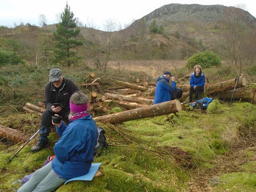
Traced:
[[[172, 83], [169, 82], [171, 77]], [[169, 71], [165, 71], [162, 76], [159, 76], [157, 78], [154, 104], [180, 99], [183, 90], [180, 88], [176, 88], [175, 80], [176, 78]]]

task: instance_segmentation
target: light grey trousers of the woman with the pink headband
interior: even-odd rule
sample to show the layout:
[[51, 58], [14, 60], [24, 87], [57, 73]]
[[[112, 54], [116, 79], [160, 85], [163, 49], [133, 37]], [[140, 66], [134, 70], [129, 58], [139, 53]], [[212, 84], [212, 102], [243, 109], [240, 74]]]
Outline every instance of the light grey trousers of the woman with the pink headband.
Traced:
[[52, 161], [36, 170], [32, 178], [22, 185], [17, 192], [52, 192], [66, 180], [52, 170]]

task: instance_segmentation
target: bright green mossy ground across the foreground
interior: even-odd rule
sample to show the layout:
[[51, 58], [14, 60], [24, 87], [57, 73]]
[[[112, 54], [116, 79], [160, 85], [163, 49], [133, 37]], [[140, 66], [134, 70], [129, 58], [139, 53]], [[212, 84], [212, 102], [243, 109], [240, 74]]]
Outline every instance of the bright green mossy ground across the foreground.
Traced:
[[[0, 119], [11, 128], [19, 128], [20, 122], [29, 133], [39, 121], [30, 114]], [[206, 111], [186, 104], [176, 114], [99, 125], [109, 144], [95, 158], [104, 174], [69, 182], [56, 192], [256, 191], [256, 104], [214, 99]], [[1, 140], [0, 191], [11, 192], [14, 181], [44, 164], [58, 139], [54, 129], [49, 139], [51, 146], [32, 153], [36, 137], [9, 163], [23, 144]]]

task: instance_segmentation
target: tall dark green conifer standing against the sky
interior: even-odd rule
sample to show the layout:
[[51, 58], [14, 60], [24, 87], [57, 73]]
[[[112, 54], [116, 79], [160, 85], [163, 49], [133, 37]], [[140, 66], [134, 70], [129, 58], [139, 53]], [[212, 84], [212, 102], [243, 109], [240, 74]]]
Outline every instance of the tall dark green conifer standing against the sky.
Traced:
[[77, 40], [80, 28], [76, 28], [76, 18], [74, 18], [73, 12], [70, 11], [68, 3], [64, 12], [61, 13], [60, 19], [60, 24], [56, 25], [57, 31], [54, 32], [54, 36], [58, 40], [54, 50], [55, 60], [69, 67], [79, 60], [76, 50], [78, 46], [83, 45], [83, 42]]

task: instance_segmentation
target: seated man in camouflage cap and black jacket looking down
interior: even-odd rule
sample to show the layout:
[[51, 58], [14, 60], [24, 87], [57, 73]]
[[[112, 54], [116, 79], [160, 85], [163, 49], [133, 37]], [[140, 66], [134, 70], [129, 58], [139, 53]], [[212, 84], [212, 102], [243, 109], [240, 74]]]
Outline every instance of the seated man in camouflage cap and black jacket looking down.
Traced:
[[[70, 113], [69, 99], [72, 94], [79, 91], [77, 85], [68, 78], [64, 78], [62, 72], [58, 68], [53, 68], [49, 72], [49, 82], [44, 87], [44, 104], [46, 110], [42, 114], [41, 125], [39, 131], [39, 140], [36, 146], [31, 148], [32, 152], [39, 152], [48, 146], [48, 135], [51, 131], [52, 116], [58, 114], [63, 119], [68, 119]], [[54, 106], [54, 103], [61, 104]]]

